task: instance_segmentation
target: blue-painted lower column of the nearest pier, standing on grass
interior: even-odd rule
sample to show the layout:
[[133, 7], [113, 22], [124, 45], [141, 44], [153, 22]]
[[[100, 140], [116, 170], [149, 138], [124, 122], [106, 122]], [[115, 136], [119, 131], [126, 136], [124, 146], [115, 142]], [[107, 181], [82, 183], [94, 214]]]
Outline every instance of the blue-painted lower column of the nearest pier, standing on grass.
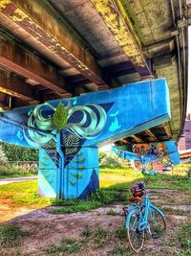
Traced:
[[39, 151], [39, 195], [46, 198], [88, 198], [99, 188], [97, 148], [62, 150], [65, 152], [63, 170], [59, 169], [60, 156], [54, 149]]

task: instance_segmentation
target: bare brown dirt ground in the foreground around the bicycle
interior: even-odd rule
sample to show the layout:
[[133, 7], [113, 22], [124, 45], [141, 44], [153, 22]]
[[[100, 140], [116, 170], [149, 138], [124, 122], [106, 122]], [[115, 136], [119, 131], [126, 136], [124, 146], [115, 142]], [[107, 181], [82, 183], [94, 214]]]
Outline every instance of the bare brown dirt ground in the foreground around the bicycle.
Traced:
[[[183, 197], [178, 191], [170, 190], [152, 190], [151, 199], [154, 203], [163, 208], [167, 220], [167, 232], [159, 239], [149, 239], [145, 247], [138, 255], [176, 255], [176, 244], [172, 244], [171, 238], [180, 229], [180, 222], [191, 221], [190, 209], [186, 202], [190, 200], [190, 193], [184, 193]], [[181, 206], [178, 211], [174, 209], [177, 205]], [[183, 206], [185, 205], [185, 206]], [[81, 233], [84, 230], [94, 231], [99, 229], [106, 230], [104, 239], [100, 238], [101, 243], [97, 244], [96, 239], [90, 243], [84, 244], [77, 253], [57, 252], [53, 255], [87, 255], [87, 256], [106, 256], [106, 255], [132, 255], [122, 229], [124, 229], [124, 217], [122, 216], [122, 207], [120, 202], [98, 208], [92, 212], [57, 214], [52, 210], [57, 207], [45, 207], [34, 210], [28, 214], [17, 217], [6, 223], [19, 224], [23, 230], [30, 230], [32, 235], [23, 238], [21, 244], [17, 247], [4, 248], [1, 255], [48, 255], [47, 249], [53, 245], [59, 245], [64, 238], [82, 239]], [[107, 215], [112, 209], [117, 212], [117, 216]], [[120, 234], [121, 233], [121, 234]], [[120, 235], [120, 236], [119, 236]], [[169, 244], [170, 248], [169, 248]], [[111, 251], [116, 248], [116, 254]], [[119, 250], [120, 248], [120, 250]], [[122, 248], [126, 252], [122, 251]], [[16, 253], [16, 254], [15, 254]]]

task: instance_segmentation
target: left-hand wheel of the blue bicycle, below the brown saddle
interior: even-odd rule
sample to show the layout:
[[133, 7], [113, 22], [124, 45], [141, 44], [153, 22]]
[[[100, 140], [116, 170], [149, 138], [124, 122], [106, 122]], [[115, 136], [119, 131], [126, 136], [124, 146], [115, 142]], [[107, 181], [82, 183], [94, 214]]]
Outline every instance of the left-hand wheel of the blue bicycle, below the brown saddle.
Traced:
[[127, 238], [131, 248], [139, 252], [144, 244], [144, 229], [139, 230], [139, 214], [137, 210], [131, 211], [127, 217]]

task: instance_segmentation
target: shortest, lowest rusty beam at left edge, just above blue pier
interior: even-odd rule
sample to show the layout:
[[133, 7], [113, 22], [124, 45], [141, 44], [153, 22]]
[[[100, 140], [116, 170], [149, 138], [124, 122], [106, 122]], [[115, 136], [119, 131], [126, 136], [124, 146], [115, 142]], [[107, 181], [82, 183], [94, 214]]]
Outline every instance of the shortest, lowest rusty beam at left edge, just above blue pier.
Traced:
[[2, 69], [0, 69], [0, 92], [27, 101], [33, 105], [39, 103], [34, 96], [33, 88], [30, 84], [26, 83], [24, 79]]

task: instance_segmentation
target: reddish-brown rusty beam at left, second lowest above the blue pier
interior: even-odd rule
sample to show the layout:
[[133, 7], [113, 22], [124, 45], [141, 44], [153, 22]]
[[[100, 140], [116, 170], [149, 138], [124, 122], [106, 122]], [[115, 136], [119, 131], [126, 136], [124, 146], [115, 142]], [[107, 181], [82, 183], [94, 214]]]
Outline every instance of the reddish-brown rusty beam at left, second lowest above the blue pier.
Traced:
[[0, 35], [0, 65], [51, 90], [70, 97], [56, 69], [24, 47]]

